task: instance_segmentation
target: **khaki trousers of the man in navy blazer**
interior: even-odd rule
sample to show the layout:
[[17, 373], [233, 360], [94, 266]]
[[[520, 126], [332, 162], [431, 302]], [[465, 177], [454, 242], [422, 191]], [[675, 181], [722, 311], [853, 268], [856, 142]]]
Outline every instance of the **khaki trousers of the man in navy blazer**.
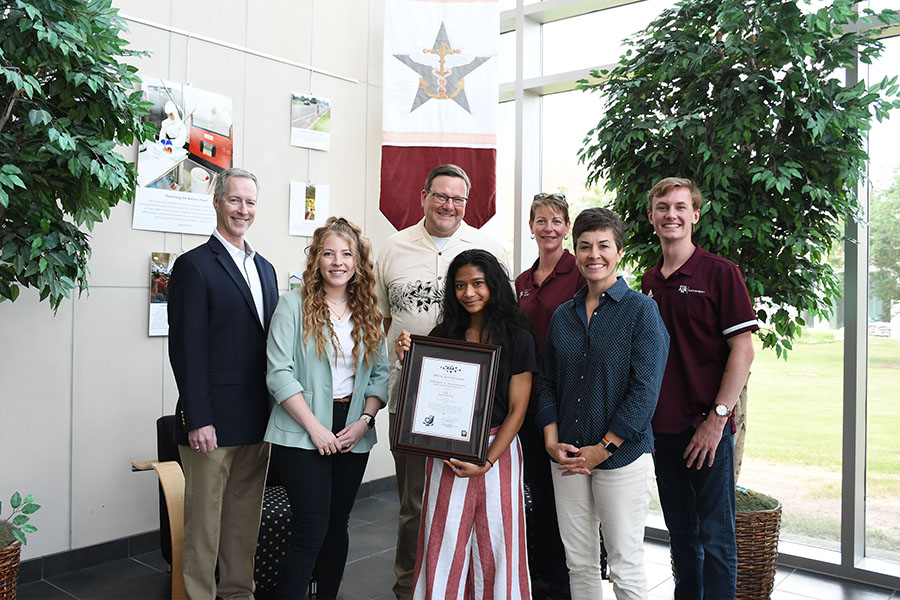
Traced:
[[178, 451], [184, 469], [185, 594], [196, 600], [253, 598], [269, 444]]

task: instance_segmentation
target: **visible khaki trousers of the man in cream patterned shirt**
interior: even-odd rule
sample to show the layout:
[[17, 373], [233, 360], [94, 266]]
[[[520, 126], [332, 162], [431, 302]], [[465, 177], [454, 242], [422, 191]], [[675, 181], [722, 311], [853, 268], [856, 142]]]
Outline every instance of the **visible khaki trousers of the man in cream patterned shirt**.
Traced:
[[[390, 414], [391, 432], [397, 426], [397, 414]], [[393, 437], [393, 435], [391, 436]], [[398, 600], [412, 598], [416, 569], [416, 544], [422, 518], [422, 495], [425, 492], [425, 457], [404, 452], [391, 452], [397, 470], [400, 494], [400, 519], [397, 527], [397, 553], [394, 559], [394, 595]]]

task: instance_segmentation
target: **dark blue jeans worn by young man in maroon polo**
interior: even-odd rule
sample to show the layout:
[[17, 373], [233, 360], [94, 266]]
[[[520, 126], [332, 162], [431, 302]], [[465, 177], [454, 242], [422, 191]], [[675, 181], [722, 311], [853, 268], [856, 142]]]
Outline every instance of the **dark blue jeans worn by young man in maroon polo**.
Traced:
[[675, 566], [675, 598], [730, 600], [737, 582], [734, 441], [726, 425], [713, 466], [688, 469], [682, 456], [694, 431], [655, 435], [656, 482]]

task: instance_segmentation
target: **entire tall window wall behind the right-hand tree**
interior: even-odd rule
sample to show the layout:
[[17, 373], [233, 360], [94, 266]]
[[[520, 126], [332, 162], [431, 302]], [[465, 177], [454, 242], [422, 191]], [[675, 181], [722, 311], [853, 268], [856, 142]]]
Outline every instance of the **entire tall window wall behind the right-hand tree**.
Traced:
[[[501, 105], [504, 133], [498, 204], [506, 203], [511, 223], [519, 224], [515, 249], [521, 266], [535, 256], [534, 243], [522, 223], [536, 191], [564, 192], [573, 213], [610, 199], [602, 189], [584, 187], [585, 168], [576, 152], [600, 118], [602, 103], [574, 91], [575, 80], [587, 77], [592, 68], [612, 66], [622, 52], [622, 39], [674, 3], [520, 0], [504, 4], [511, 8], [503, 14], [504, 27], [516, 26], [514, 33], [504, 35], [504, 52], [515, 52], [515, 56], [504, 57], [503, 72], [514, 77], [518, 66], [524, 76], [513, 81], [503, 78], [502, 96], [515, 102]], [[895, 4], [896, 0], [868, 2], [875, 10], [895, 8]], [[514, 36], [522, 41], [522, 48], [516, 47]], [[896, 75], [900, 37], [886, 44], [886, 55], [870, 72], [848, 75], [871, 80]], [[860, 187], [870, 207], [871, 229], [863, 227], [857, 234], [849, 226], [848, 233], [859, 239], [861, 250], [857, 252], [850, 241], [829, 258], [846, 285], [835, 315], [816, 322], [807, 319], [809, 327], [787, 361], [757, 347], [739, 481], [782, 501], [780, 560], [894, 587], [900, 586], [897, 139], [900, 114], [874, 125], [871, 185], [868, 190]], [[882, 252], [883, 248], [887, 250]], [[853, 258], [856, 255], [867, 256], [868, 264]], [[896, 294], [890, 291], [891, 283]], [[662, 526], [655, 519], [648, 524], [651, 530]]]

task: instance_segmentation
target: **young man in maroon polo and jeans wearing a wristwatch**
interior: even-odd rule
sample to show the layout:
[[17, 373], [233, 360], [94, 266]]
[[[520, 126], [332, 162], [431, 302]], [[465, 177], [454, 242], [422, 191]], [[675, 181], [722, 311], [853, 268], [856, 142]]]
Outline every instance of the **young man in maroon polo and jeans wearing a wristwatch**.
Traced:
[[675, 566], [675, 598], [734, 598], [732, 410], [753, 362], [759, 329], [731, 261], [691, 241], [702, 196], [667, 177], [648, 195], [662, 260], [643, 277], [671, 344], [653, 416], [656, 479]]

